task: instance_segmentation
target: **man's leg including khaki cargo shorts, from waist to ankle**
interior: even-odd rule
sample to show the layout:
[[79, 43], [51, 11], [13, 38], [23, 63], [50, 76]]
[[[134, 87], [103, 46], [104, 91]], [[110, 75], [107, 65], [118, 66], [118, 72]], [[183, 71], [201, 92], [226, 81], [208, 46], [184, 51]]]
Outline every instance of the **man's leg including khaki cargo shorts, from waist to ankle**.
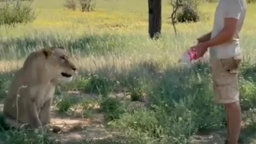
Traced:
[[225, 105], [227, 113], [228, 144], [237, 144], [242, 122], [236, 62], [233, 58], [211, 61], [214, 99]]

